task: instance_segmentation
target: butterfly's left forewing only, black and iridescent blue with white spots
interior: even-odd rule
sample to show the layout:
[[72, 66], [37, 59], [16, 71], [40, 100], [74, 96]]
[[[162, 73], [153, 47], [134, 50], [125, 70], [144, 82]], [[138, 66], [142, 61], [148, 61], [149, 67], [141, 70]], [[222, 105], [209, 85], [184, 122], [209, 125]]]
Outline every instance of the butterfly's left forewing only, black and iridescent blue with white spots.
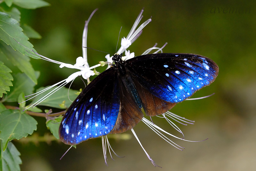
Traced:
[[63, 143], [79, 144], [107, 135], [115, 126], [120, 108], [119, 82], [114, 68], [101, 73], [78, 95], [60, 123]]

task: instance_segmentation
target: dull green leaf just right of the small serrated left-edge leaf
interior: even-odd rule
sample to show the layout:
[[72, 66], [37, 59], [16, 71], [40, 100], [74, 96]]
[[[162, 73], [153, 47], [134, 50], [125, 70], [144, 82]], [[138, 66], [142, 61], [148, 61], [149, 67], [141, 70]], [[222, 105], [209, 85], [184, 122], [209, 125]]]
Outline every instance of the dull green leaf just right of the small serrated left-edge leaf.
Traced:
[[[39, 77], [39, 71], [36, 71], [36, 78]], [[24, 73], [13, 74], [13, 86], [10, 88], [10, 92], [4, 96], [4, 101], [16, 102], [20, 93], [30, 95], [34, 91], [36, 85], [31, 79], [28, 78]]]

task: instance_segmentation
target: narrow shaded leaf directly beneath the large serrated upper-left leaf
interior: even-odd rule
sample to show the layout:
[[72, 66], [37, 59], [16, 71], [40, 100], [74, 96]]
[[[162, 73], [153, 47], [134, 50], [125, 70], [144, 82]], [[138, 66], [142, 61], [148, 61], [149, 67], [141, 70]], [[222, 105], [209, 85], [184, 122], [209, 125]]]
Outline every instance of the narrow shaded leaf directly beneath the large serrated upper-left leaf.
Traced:
[[0, 48], [7, 60], [14, 66], [17, 66], [21, 72], [24, 72], [35, 84], [37, 84], [35, 70], [33, 69], [28, 56], [12, 50], [10, 46], [7, 46], [3, 42], [0, 42]]

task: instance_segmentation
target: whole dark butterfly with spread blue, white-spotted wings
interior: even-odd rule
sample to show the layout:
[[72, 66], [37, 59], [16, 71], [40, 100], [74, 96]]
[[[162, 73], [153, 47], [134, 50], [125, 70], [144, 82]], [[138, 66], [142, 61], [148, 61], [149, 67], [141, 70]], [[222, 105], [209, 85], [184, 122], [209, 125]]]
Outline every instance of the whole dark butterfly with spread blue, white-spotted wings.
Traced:
[[160, 53], [123, 61], [92, 80], [68, 108], [60, 123], [63, 143], [76, 145], [107, 134], [131, 130], [143, 118], [161, 115], [210, 85], [219, 67], [195, 54]]

